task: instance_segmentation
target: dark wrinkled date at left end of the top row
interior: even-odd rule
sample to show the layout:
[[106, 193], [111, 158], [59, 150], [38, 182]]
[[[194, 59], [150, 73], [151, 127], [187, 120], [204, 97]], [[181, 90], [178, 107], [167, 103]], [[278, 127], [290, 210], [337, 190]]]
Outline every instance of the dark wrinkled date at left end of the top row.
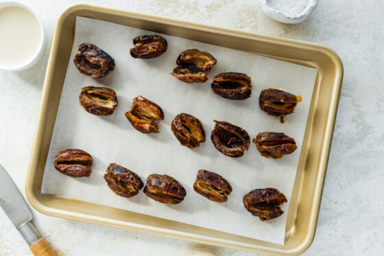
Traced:
[[76, 54], [73, 62], [80, 73], [91, 78], [104, 78], [115, 69], [115, 60], [105, 51], [91, 43], [79, 45], [80, 54]]

